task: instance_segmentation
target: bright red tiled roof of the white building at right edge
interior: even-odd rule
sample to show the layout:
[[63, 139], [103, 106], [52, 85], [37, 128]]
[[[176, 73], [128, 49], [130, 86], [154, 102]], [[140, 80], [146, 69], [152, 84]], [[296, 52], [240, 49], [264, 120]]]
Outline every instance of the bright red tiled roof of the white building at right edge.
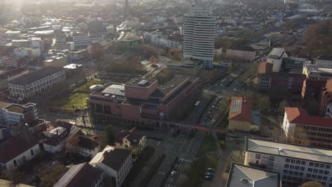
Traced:
[[332, 128], [332, 119], [308, 115], [301, 108], [284, 108], [289, 123]]

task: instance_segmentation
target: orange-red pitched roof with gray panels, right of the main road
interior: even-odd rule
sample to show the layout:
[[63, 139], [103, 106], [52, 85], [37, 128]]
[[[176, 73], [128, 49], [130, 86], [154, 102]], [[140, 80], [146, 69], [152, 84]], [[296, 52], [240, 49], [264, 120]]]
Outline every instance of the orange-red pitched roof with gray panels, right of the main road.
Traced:
[[228, 120], [251, 122], [251, 102], [248, 98], [232, 97]]

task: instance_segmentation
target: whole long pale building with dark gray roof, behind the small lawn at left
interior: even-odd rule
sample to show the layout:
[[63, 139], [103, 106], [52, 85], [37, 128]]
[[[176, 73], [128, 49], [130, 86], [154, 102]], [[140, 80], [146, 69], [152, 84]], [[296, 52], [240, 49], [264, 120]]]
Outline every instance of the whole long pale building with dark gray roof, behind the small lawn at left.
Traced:
[[65, 80], [65, 70], [59, 67], [45, 67], [9, 81], [9, 93], [15, 98], [31, 98], [41, 94], [55, 84]]

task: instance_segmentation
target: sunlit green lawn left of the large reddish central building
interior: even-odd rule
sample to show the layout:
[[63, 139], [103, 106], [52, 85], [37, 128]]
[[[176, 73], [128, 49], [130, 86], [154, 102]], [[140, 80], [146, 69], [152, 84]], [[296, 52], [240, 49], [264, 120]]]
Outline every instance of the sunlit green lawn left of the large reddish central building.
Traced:
[[75, 93], [62, 96], [52, 103], [52, 106], [74, 111], [75, 109], [87, 108], [87, 97], [89, 94]]

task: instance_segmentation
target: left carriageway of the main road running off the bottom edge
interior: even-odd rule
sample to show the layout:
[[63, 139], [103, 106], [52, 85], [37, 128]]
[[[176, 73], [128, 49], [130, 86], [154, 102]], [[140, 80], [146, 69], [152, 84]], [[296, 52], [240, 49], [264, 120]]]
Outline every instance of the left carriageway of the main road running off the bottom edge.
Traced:
[[151, 179], [148, 187], [160, 187], [162, 182], [166, 179], [167, 175], [170, 174], [171, 167], [175, 162], [176, 157], [166, 155], [165, 159], [162, 161], [162, 164], [158, 167], [155, 175]]

